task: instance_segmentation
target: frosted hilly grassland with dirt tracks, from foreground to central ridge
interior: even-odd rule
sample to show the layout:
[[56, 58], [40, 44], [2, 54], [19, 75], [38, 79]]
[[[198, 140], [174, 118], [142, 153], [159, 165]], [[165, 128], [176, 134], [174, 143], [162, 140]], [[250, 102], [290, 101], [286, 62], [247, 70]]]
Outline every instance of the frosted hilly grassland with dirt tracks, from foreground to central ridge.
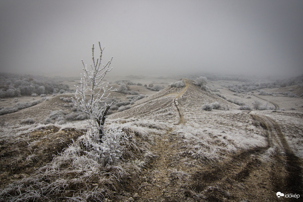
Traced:
[[[274, 199], [277, 186], [299, 193], [302, 112], [257, 110], [253, 102], [259, 98], [251, 92], [235, 95], [219, 82], [205, 89], [195, 83], [180, 79], [159, 92], [138, 85], [128, 89], [148, 94], [140, 99], [113, 92], [111, 99], [124, 96], [121, 104], [133, 103], [108, 116], [99, 144], [86, 135], [86, 121], [2, 123], [0, 199], [264, 201]], [[35, 115], [44, 120], [53, 110], [60, 115], [70, 105], [69, 96], [54, 96], [1, 120], [13, 123]], [[296, 99], [299, 106], [301, 98]], [[238, 110], [242, 102], [250, 110]]]

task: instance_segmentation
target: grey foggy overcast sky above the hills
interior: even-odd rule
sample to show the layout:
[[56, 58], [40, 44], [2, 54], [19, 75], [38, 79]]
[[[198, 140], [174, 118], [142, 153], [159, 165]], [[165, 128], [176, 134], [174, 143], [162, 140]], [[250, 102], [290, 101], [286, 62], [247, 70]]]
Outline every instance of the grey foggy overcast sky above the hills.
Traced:
[[1, 72], [79, 76], [98, 41], [112, 74], [296, 76], [303, 1], [0, 1]]

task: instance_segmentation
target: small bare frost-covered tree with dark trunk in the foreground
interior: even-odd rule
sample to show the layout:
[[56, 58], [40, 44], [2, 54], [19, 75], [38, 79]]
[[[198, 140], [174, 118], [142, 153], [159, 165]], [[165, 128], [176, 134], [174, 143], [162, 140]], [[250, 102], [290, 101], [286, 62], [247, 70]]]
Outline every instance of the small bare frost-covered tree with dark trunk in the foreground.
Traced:
[[101, 65], [102, 52], [104, 48], [100, 48], [100, 56], [95, 61], [94, 56], [94, 45], [92, 47], [92, 70], [88, 70], [87, 65], [83, 64], [83, 70], [85, 74], [81, 74], [81, 86], [76, 86], [75, 99], [72, 98], [73, 103], [77, 105], [82, 112], [87, 114], [89, 122], [88, 134], [94, 141], [102, 142], [103, 137], [103, 125], [105, 123], [106, 113], [114, 102], [111, 104], [104, 104], [100, 106], [101, 101], [108, 97], [108, 91], [113, 91], [112, 87], [108, 86], [108, 83], [102, 82], [106, 73], [112, 70], [109, 68], [112, 58], [106, 63], [106, 65]]

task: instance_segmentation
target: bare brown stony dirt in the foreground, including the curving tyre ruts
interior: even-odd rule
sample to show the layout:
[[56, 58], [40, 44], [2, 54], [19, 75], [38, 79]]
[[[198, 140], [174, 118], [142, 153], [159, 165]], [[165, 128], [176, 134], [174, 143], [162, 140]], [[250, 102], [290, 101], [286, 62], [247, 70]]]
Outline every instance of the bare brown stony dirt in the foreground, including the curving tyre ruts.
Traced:
[[171, 134], [172, 129], [155, 138], [152, 149], [158, 157], [142, 172], [140, 188], [132, 199], [157, 202], [278, 201], [278, 191], [303, 196], [302, 160], [291, 151], [274, 120], [256, 114], [252, 117], [265, 129], [267, 146], [239, 151], [218, 163], [185, 166], [182, 157], [178, 156], [178, 139]]

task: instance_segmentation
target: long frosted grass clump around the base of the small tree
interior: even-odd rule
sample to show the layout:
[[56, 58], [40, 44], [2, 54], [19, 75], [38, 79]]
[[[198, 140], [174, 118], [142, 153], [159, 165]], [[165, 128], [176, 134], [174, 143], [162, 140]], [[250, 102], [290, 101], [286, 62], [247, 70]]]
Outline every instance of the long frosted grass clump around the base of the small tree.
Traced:
[[104, 128], [102, 143], [82, 135], [51, 163], [0, 190], [0, 200], [102, 201], [115, 197], [113, 192], [125, 189], [123, 182], [129, 177], [135, 179], [154, 157], [150, 151], [153, 137], [165, 132], [155, 128], [163, 126], [112, 120]]

